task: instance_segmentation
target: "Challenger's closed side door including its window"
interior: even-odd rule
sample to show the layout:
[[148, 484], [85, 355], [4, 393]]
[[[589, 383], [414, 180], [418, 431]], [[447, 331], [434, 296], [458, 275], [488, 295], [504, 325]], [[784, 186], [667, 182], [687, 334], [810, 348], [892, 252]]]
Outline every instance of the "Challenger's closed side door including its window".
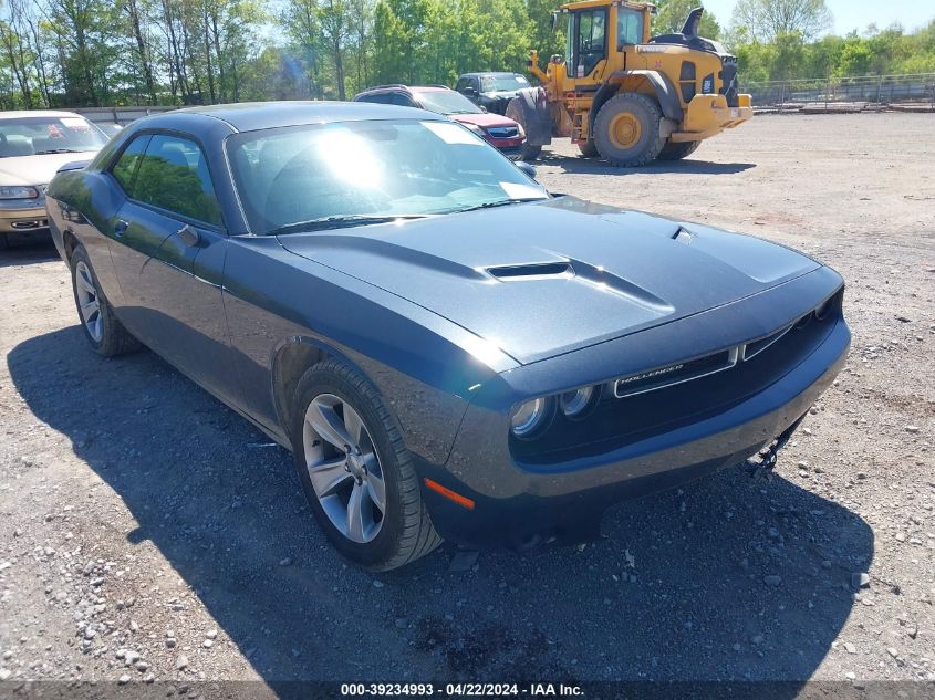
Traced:
[[221, 300], [228, 239], [204, 150], [191, 137], [144, 134], [112, 175], [126, 194], [110, 236], [121, 320], [205, 388], [239, 405]]

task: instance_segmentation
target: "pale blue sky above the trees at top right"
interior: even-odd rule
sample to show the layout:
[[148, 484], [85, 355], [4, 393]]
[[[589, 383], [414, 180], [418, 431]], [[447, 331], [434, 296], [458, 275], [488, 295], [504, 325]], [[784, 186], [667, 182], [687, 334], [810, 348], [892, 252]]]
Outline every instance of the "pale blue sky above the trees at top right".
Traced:
[[[705, 9], [713, 12], [721, 27], [730, 24], [736, 0], [704, 0]], [[834, 15], [835, 34], [846, 34], [856, 29], [863, 33], [868, 24], [884, 29], [900, 22], [906, 31], [918, 29], [935, 19], [933, 0], [824, 0]]]

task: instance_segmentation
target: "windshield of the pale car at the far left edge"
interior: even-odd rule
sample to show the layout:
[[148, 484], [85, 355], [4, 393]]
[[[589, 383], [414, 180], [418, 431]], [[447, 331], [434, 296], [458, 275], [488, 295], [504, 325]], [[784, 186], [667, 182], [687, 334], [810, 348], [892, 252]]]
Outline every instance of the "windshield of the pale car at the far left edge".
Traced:
[[0, 158], [98, 150], [106, 143], [101, 129], [77, 115], [0, 119]]

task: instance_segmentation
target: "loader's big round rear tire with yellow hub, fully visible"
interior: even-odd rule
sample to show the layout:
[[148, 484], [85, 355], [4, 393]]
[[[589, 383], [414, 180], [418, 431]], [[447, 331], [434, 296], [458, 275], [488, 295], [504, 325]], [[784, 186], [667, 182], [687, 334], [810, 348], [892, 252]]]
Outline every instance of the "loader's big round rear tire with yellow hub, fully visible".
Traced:
[[609, 163], [632, 168], [647, 165], [662, 152], [662, 112], [656, 101], [640, 93], [607, 100], [594, 119], [594, 143]]

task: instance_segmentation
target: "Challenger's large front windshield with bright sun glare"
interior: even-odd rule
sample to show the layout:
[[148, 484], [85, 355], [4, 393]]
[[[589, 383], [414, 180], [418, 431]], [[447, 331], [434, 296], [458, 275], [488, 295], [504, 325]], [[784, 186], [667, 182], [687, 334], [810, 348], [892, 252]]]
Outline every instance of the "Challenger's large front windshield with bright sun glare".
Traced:
[[430, 216], [548, 197], [492, 146], [453, 122], [246, 132], [231, 136], [227, 149], [253, 233], [328, 218]]

